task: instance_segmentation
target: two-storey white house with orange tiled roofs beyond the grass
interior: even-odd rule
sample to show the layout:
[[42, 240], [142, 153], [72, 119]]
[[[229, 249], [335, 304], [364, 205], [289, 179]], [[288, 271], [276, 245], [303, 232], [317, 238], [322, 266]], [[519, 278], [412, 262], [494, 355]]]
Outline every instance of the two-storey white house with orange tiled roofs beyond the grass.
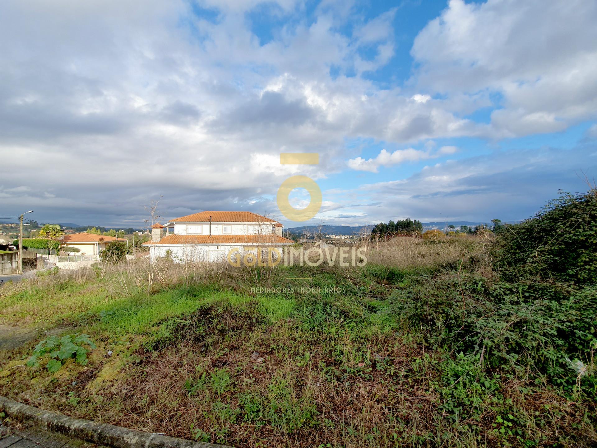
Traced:
[[[164, 235], [164, 229], [166, 229]], [[175, 262], [224, 261], [231, 250], [244, 254], [276, 248], [280, 253], [294, 241], [282, 237], [282, 224], [250, 211], [201, 211], [152, 226], [150, 259], [170, 256]]]

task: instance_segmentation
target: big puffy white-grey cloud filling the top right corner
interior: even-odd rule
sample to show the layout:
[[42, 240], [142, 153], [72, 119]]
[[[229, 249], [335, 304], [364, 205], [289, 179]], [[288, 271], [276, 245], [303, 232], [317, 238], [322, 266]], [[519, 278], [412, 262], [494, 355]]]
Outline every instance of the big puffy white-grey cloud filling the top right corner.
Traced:
[[555, 132], [597, 117], [597, 2], [451, 0], [418, 34], [414, 82], [497, 92], [493, 137]]

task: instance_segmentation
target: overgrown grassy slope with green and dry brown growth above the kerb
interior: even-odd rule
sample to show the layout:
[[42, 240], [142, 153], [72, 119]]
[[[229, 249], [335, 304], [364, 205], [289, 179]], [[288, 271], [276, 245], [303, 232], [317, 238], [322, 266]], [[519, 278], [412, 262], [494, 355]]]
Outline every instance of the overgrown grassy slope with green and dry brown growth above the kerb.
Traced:
[[[78, 326], [99, 348], [87, 366], [69, 361], [55, 374], [24, 367], [34, 343], [8, 352], [0, 393], [236, 446], [595, 441], [595, 410], [583, 398], [530, 376], [488, 375], [449, 347], [433, 350], [421, 327], [396, 312], [402, 291], [457, 275], [477, 244], [393, 244], [358, 269], [164, 266], [152, 274], [129, 266], [5, 287], [1, 323]], [[151, 286], [150, 275], [159, 279]], [[252, 294], [252, 286], [295, 291]], [[343, 292], [303, 294], [300, 286]]]

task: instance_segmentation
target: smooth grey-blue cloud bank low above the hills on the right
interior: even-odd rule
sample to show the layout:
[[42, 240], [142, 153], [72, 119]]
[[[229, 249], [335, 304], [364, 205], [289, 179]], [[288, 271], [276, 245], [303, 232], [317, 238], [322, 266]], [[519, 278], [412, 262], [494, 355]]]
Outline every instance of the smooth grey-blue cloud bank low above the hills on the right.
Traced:
[[[597, 170], [589, 142], [570, 150], [559, 148], [495, 151], [429, 165], [406, 179], [326, 191], [346, 213], [365, 213], [352, 224], [387, 222], [411, 217], [422, 221], [493, 218], [521, 220], [532, 216], [558, 189], [583, 191], [577, 176]], [[593, 154], [594, 156], [594, 154]], [[358, 207], [352, 207], [359, 202]]]

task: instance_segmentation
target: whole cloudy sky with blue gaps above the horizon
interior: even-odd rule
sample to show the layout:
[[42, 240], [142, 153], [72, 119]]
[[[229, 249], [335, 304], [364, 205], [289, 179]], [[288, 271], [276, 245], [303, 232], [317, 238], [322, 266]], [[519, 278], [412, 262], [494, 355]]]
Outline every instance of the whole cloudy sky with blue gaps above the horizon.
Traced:
[[593, 0], [0, 9], [2, 216], [141, 226], [159, 199], [292, 227], [276, 192], [302, 174], [323, 195], [308, 223], [519, 220], [597, 178]]

